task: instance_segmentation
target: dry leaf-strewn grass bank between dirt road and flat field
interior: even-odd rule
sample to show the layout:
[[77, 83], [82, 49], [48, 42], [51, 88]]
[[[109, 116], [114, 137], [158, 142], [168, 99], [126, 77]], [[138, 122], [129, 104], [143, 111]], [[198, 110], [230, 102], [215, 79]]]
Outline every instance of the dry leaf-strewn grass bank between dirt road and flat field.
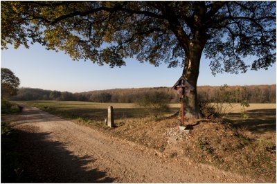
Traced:
[[196, 120], [192, 124], [195, 126], [185, 139], [168, 134], [169, 129], [179, 131], [174, 118], [157, 122], [150, 118], [128, 118], [118, 120], [116, 129], [97, 128], [156, 149], [161, 156], [186, 157], [260, 181], [276, 181], [276, 134], [260, 136], [211, 120]]

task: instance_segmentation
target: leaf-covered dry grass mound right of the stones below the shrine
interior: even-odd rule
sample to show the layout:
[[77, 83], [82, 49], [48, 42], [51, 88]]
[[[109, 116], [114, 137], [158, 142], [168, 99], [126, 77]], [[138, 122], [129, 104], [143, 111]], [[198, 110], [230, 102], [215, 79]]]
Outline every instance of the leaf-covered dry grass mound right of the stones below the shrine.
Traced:
[[182, 147], [185, 155], [202, 163], [276, 181], [276, 134], [260, 138], [220, 122], [200, 122]]

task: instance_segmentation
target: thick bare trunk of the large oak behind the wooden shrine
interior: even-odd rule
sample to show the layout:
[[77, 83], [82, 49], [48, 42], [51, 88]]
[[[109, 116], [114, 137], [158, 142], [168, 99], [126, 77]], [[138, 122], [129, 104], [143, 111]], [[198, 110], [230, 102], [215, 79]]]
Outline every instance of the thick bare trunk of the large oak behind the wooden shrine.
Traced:
[[189, 52], [186, 56], [186, 62], [183, 75], [188, 82], [195, 88], [184, 98], [184, 112], [186, 118], [202, 118], [197, 100], [197, 79], [199, 75], [199, 65], [204, 48], [204, 39], [192, 39], [189, 45]]

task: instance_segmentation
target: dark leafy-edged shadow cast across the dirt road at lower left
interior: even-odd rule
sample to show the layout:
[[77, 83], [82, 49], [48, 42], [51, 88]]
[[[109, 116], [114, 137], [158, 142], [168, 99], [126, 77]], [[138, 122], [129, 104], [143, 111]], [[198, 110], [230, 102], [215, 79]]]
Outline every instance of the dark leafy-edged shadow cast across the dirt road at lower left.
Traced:
[[75, 156], [61, 142], [48, 140], [49, 133], [19, 131], [23, 178], [27, 183], [111, 183], [116, 178], [98, 169], [87, 169], [95, 160]]

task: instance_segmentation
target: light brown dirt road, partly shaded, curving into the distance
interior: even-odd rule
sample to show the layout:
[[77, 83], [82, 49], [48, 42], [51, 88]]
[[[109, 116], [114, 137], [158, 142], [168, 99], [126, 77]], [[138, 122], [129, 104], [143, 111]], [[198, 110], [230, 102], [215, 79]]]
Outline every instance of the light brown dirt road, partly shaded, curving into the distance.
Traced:
[[24, 173], [35, 183], [259, 182], [185, 158], [163, 158], [34, 107], [2, 119], [21, 131]]

